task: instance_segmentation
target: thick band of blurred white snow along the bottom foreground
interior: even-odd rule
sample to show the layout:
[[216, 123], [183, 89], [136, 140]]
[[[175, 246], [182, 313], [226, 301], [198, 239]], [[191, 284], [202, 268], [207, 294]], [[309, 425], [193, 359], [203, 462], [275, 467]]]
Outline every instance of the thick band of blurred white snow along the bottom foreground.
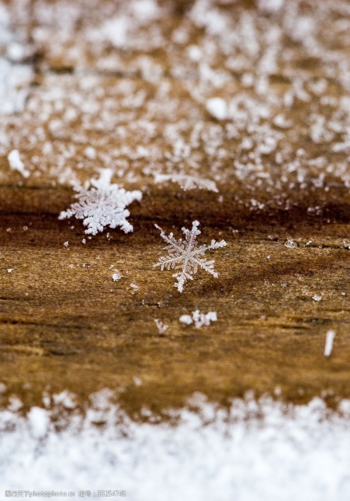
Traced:
[[132, 501], [345, 501], [350, 402], [340, 411], [327, 411], [317, 398], [287, 408], [247, 397], [227, 413], [197, 394], [173, 413], [177, 424], [137, 424], [100, 392], [85, 418], [62, 410], [60, 431], [51, 420], [57, 408], [32, 408], [27, 418], [2, 411], [0, 491], [71, 490], [79, 499], [81, 489], [121, 489]]

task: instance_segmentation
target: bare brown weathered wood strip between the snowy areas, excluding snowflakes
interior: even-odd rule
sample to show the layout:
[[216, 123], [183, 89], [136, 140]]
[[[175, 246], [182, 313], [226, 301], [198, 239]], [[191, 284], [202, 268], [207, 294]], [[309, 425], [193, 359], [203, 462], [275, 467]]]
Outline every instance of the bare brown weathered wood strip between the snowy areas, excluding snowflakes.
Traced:
[[[66, 75], [54, 74], [52, 61], [45, 69], [40, 57], [34, 102], [41, 85], [67, 85]], [[57, 65], [67, 71], [62, 61]], [[95, 77], [107, 92], [121, 79], [109, 76], [107, 83], [105, 76]], [[67, 78], [75, 85], [75, 77]], [[179, 102], [188, 98], [181, 84], [170, 84], [178, 89]], [[149, 82], [136, 79], [136, 85], [152, 93]], [[303, 106], [291, 112], [296, 129]], [[35, 110], [32, 117], [27, 111], [17, 116], [15, 127], [22, 123], [30, 130]], [[141, 118], [142, 113], [141, 108]], [[201, 119], [211, 123], [203, 113]], [[59, 137], [61, 144], [70, 142], [71, 130], [80, 132], [79, 120]], [[90, 137], [98, 135], [92, 131]], [[24, 157], [34, 155], [24, 139], [16, 143], [16, 128], [11, 138]], [[80, 161], [77, 148], [69, 158], [73, 169]], [[309, 140], [303, 148], [332, 158], [329, 145]], [[56, 168], [56, 156], [46, 158]], [[88, 162], [86, 179], [96, 172], [93, 163]], [[147, 163], [139, 160], [135, 172]], [[219, 183], [220, 193], [183, 192], [178, 185], [159, 187], [145, 178], [142, 202], [130, 207], [134, 232], [107, 229], [84, 245], [81, 222], [58, 220], [73, 200], [67, 184], [53, 184], [45, 173], [25, 180], [9, 171], [6, 155], [0, 166], [5, 173], [0, 185], [2, 405], [14, 394], [25, 406], [42, 405], [43, 393], [65, 389], [83, 405], [105, 387], [130, 413], [144, 406], [156, 412], [181, 406], [195, 391], [221, 403], [247, 390], [281, 394], [292, 402], [323, 395], [332, 404], [350, 397], [350, 261], [344, 244], [350, 200], [344, 186], [330, 183], [328, 191], [295, 186], [284, 192], [292, 201], [289, 210], [276, 205], [251, 210], [252, 197], [268, 198], [263, 188], [253, 191], [236, 180]], [[125, 185], [131, 186], [127, 179]], [[316, 206], [322, 207], [319, 214], [307, 211]], [[163, 247], [154, 223], [180, 237], [181, 226], [190, 227], [194, 219], [201, 222], [200, 243], [224, 239], [227, 247], [208, 254], [219, 277], [199, 272], [180, 294], [171, 272], [152, 267]], [[297, 247], [286, 247], [287, 239]], [[110, 265], [122, 273], [120, 281], [113, 282]], [[134, 292], [131, 283], [139, 290]], [[313, 299], [315, 294], [322, 300]], [[180, 315], [196, 309], [216, 311], [218, 321], [202, 329], [179, 322]], [[169, 324], [164, 336], [155, 318]], [[328, 329], [336, 338], [332, 356], [325, 358]]]

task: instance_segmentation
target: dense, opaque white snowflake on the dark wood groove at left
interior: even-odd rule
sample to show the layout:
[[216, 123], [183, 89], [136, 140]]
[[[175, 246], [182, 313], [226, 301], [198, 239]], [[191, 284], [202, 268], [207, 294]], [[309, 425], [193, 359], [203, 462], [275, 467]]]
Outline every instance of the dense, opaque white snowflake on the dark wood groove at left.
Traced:
[[126, 191], [118, 184], [111, 184], [111, 169], [101, 169], [99, 179], [91, 179], [84, 186], [78, 184], [74, 186], [77, 191], [75, 202], [67, 211], [61, 212], [59, 219], [75, 216], [76, 219], [83, 219], [84, 226], [87, 226], [85, 233], [96, 235], [98, 231], [103, 231], [105, 226], [116, 228], [120, 226], [125, 233], [133, 230], [133, 226], [127, 221], [130, 212], [126, 206], [134, 200], [140, 201], [142, 193], [139, 190]]

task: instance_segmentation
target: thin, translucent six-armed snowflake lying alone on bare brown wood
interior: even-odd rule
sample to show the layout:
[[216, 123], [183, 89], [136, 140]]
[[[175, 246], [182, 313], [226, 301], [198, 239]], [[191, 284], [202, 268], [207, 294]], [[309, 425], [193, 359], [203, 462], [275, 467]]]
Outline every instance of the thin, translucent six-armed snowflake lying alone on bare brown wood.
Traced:
[[169, 237], [167, 237], [160, 226], [157, 224], [154, 225], [161, 230], [162, 239], [169, 245], [164, 247], [164, 249], [168, 251], [168, 256], [160, 257], [159, 262], [153, 264], [153, 266], [161, 266], [162, 271], [164, 269], [179, 270], [173, 275], [177, 280], [177, 283], [174, 285], [179, 292], [183, 291], [183, 286], [187, 280], [193, 280], [192, 275], [197, 273], [198, 267], [210, 273], [215, 278], [218, 276], [218, 274], [214, 272], [215, 261], [207, 261], [205, 257], [200, 256], [203, 256], [207, 250], [224, 247], [226, 242], [224, 240], [220, 242], [212, 240], [210, 245], [198, 246], [196, 239], [201, 233], [198, 229], [199, 224], [199, 221], [193, 221], [191, 230], [184, 227], [182, 228], [185, 240], [175, 240], [173, 233], [170, 233]]

